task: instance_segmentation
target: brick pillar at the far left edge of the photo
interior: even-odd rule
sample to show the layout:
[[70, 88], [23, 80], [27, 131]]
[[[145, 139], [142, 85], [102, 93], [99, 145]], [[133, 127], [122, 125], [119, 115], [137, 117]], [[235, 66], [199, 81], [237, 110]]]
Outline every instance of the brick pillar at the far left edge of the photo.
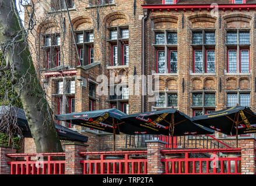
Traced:
[[16, 149], [9, 146], [0, 146], [0, 174], [10, 174], [10, 166], [7, 162], [11, 159], [5, 156], [8, 153], [16, 153]]

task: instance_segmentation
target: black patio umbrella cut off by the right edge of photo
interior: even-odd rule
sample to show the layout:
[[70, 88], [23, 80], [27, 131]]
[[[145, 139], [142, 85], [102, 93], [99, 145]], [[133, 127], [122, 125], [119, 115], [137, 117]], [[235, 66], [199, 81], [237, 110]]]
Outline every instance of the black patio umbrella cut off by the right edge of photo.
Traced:
[[246, 106], [236, 106], [192, 118], [195, 123], [227, 135], [256, 133], [256, 115]]

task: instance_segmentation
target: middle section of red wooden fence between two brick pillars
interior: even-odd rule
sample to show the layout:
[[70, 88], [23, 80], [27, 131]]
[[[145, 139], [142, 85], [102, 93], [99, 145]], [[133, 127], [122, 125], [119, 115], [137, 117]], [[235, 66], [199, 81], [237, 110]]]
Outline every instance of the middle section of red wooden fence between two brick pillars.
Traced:
[[[83, 174], [147, 174], [147, 151], [80, 152]], [[132, 156], [131, 156], [132, 155]], [[91, 156], [91, 157], [89, 157]], [[93, 158], [92, 156], [100, 156]]]

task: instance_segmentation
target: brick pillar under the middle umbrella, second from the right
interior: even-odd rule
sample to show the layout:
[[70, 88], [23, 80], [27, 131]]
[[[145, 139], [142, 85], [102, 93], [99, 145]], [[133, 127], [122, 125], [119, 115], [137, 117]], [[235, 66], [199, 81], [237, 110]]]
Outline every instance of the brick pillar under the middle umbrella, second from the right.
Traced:
[[146, 140], [148, 148], [148, 174], [164, 173], [164, 156], [160, 153], [165, 148], [166, 142], [159, 140]]

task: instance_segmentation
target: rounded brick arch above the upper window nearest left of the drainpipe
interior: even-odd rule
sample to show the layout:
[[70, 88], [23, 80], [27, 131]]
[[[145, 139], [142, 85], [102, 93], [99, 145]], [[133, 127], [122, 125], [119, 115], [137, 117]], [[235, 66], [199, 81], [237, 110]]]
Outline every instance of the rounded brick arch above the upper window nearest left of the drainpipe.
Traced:
[[103, 23], [106, 23], [107, 27], [121, 26], [129, 23], [128, 17], [122, 12], [113, 12], [108, 14]]

